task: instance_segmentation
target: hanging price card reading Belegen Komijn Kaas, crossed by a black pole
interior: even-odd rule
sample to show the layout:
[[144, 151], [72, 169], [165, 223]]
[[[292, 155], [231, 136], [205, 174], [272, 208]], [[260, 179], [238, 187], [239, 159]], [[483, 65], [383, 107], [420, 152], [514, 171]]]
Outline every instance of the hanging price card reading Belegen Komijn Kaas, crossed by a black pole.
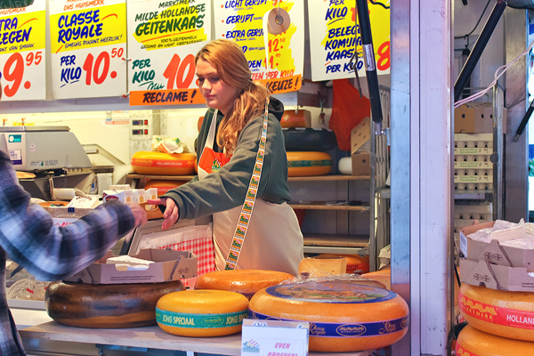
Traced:
[[[389, 3], [368, 4], [378, 75], [390, 72]], [[356, 77], [354, 68], [365, 77], [357, 16], [355, 0], [318, 1], [308, 7], [313, 81]]]

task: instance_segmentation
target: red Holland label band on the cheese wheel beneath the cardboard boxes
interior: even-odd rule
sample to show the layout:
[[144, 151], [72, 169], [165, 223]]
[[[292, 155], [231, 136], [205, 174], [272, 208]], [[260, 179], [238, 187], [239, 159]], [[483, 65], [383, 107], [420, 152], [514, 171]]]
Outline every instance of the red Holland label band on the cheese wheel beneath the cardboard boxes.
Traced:
[[512, 328], [528, 328], [534, 330], [534, 312], [523, 312], [503, 308], [492, 304], [481, 303], [459, 294], [460, 310], [465, 314], [493, 324]]

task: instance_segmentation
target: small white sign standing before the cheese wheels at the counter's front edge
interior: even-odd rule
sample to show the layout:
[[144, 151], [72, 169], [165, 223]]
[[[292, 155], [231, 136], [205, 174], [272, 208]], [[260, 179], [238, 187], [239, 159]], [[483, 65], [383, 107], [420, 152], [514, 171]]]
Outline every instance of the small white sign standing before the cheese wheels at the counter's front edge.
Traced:
[[241, 356], [308, 355], [310, 323], [244, 319]]

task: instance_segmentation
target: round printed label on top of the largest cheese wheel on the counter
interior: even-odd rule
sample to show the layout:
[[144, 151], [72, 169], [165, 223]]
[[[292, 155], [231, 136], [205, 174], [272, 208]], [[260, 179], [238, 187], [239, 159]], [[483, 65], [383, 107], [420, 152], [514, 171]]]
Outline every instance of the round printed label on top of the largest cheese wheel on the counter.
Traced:
[[377, 303], [397, 296], [390, 290], [343, 281], [287, 284], [268, 287], [265, 291], [279, 298], [315, 303]]

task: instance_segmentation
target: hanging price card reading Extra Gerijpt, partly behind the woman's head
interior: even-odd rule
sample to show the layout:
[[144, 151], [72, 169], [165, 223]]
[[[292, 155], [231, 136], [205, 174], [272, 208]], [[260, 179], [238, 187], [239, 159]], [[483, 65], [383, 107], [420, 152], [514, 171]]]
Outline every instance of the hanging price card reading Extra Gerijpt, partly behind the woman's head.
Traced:
[[214, 0], [214, 7], [215, 36], [236, 41], [243, 48], [254, 80], [262, 81], [271, 93], [300, 89], [303, 0]]

